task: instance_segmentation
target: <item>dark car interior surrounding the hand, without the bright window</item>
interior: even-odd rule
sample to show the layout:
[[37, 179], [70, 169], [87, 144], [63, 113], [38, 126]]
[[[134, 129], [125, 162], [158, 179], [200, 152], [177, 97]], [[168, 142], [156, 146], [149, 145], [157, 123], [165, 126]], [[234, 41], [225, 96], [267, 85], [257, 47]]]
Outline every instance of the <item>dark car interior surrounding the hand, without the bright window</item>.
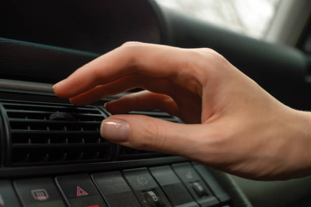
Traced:
[[[102, 120], [111, 116], [105, 102], [141, 89], [85, 107], [58, 98], [52, 89], [101, 54], [140, 41], [212, 48], [287, 106], [310, 111], [311, 4], [301, 2], [304, 20], [294, 18], [302, 16], [296, 5], [295, 14], [275, 18], [288, 21], [270, 25], [279, 28], [281, 43], [155, 0], [2, 2], [0, 206], [310, 206], [309, 177], [247, 180], [183, 157], [106, 141], [100, 135]], [[277, 26], [290, 19], [296, 27]], [[294, 35], [296, 41], [286, 41]], [[159, 110], [130, 114], [183, 123]]]

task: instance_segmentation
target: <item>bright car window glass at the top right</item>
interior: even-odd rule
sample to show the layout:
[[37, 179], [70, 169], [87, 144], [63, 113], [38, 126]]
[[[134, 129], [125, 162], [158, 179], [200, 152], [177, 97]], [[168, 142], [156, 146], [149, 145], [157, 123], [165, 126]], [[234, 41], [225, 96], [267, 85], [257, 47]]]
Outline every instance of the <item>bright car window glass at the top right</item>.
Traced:
[[248, 36], [265, 39], [280, 0], [157, 0], [165, 7]]

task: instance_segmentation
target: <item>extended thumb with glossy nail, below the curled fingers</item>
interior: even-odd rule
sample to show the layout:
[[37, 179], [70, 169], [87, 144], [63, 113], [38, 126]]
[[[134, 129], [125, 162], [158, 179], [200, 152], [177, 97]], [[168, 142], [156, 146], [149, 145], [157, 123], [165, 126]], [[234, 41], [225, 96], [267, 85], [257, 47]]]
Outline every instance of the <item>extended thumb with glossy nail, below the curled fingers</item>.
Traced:
[[192, 158], [200, 147], [200, 124], [180, 124], [143, 115], [113, 115], [101, 125], [108, 141], [139, 150], [158, 151]]

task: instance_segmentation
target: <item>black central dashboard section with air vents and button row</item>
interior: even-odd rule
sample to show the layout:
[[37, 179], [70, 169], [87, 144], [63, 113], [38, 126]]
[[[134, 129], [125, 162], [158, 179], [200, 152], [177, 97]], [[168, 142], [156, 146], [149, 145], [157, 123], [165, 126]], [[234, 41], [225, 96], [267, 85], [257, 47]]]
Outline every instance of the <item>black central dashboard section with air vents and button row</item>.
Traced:
[[[29, 84], [9, 82], [16, 88]], [[0, 94], [11, 98], [0, 100], [0, 206], [243, 203], [238, 188], [223, 172], [182, 157], [118, 146], [102, 138], [101, 121], [110, 116], [103, 104], [116, 97], [74, 107], [49, 92], [1, 89]], [[131, 114], [182, 123], [157, 110]], [[230, 193], [236, 194], [234, 199]]]

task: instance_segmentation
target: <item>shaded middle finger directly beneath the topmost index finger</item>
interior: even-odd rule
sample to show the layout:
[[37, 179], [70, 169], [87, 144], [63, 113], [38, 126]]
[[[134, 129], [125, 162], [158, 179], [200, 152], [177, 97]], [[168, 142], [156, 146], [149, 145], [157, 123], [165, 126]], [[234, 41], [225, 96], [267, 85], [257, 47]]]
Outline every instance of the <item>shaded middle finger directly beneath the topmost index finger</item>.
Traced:
[[[97, 86], [89, 91], [70, 98], [70, 102], [76, 106], [85, 106], [104, 97], [125, 92], [133, 88], [144, 88], [156, 93], [164, 93], [172, 96], [176, 95], [174, 91], [184, 90], [177, 90], [175, 87], [176, 85], [167, 80], [132, 74], [119, 78], [111, 83]], [[186, 95], [186, 92], [183, 94]]]

